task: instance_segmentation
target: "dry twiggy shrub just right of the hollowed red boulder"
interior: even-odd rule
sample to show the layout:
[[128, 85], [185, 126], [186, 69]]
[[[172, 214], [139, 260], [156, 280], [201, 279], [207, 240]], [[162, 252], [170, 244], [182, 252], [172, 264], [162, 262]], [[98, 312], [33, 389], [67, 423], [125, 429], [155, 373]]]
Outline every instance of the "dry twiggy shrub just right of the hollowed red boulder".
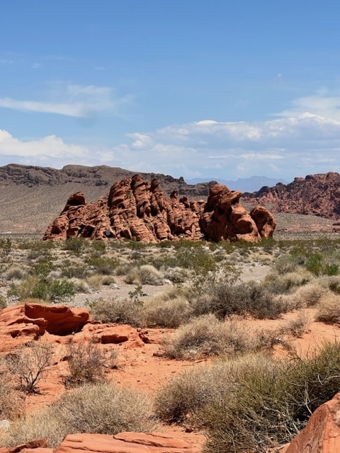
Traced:
[[140, 325], [142, 306], [131, 299], [97, 299], [89, 309], [91, 316], [103, 323]]

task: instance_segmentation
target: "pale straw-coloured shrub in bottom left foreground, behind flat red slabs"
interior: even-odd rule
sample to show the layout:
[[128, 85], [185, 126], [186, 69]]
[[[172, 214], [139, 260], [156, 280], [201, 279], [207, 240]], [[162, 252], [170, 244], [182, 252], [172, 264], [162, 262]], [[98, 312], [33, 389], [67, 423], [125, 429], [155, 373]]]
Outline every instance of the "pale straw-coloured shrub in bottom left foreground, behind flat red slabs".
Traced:
[[45, 437], [50, 447], [56, 447], [66, 435], [75, 432], [115, 435], [150, 431], [153, 426], [146, 394], [118, 389], [113, 384], [84, 385], [65, 392], [45, 411], [11, 423], [0, 434], [0, 443], [13, 447]]

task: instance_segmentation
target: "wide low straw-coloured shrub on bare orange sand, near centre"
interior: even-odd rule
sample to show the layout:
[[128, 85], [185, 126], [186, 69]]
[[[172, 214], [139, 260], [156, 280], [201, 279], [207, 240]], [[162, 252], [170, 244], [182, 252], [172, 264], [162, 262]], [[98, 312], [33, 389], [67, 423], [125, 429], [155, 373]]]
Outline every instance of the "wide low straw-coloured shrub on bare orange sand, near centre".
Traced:
[[213, 314], [193, 319], [163, 342], [164, 355], [174, 359], [233, 355], [257, 347], [249, 328], [239, 321], [219, 321]]

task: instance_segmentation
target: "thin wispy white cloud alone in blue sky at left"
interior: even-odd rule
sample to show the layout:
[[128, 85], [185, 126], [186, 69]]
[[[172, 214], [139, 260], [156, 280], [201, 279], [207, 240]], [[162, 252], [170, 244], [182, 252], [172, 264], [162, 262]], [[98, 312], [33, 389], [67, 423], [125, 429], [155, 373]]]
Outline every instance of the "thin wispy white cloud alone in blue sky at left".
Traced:
[[[46, 93], [46, 101], [21, 101], [13, 98], [0, 98], [0, 107], [28, 112], [55, 113], [71, 117], [91, 117], [103, 110], [117, 114], [119, 105], [128, 102], [128, 96], [115, 98], [108, 86], [80, 86], [77, 84], [56, 84], [51, 93]], [[58, 98], [60, 101], [54, 101]]]

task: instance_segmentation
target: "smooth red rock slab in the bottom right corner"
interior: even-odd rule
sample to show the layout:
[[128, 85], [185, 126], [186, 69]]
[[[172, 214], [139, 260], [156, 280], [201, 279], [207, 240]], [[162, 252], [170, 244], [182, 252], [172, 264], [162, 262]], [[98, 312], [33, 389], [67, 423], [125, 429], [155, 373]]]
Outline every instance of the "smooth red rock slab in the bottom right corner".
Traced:
[[340, 452], [340, 393], [312, 413], [307, 426], [280, 453]]

